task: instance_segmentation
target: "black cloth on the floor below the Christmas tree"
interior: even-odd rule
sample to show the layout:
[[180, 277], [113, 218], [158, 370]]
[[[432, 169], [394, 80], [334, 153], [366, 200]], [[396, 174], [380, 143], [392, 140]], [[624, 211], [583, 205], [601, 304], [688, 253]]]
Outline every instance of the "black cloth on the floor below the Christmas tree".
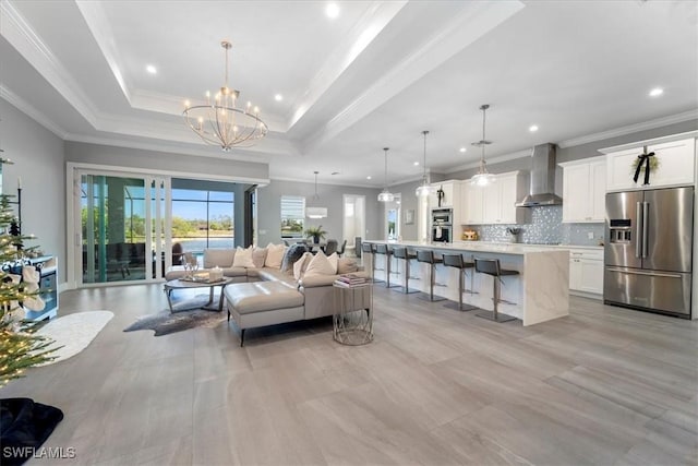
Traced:
[[0, 399], [0, 464], [21, 465], [37, 454], [62, 419], [60, 409], [31, 398]]

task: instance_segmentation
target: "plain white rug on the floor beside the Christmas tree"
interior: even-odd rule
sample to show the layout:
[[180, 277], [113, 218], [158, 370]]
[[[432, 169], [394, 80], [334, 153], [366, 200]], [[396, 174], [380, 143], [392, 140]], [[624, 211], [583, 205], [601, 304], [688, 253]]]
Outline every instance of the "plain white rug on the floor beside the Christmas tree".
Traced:
[[36, 334], [51, 338], [53, 344], [49, 348], [58, 349], [52, 354], [56, 359], [41, 366], [63, 361], [85, 349], [111, 318], [113, 313], [109, 311], [87, 311], [49, 321]]

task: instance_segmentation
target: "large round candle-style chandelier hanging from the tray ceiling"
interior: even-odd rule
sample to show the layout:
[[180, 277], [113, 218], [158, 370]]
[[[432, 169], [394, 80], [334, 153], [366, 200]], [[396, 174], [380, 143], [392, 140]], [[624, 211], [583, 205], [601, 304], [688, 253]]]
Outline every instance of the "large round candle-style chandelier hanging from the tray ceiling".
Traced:
[[260, 119], [260, 109], [248, 103], [238, 108], [240, 91], [228, 87], [228, 51], [232, 45], [228, 40], [220, 43], [226, 50], [226, 81], [220, 91], [213, 97], [206, 91], [205, 105], [184, 103], [182, 116], [191, 128], [206, 144], [219, 145], [225, 152], [234, 146], [250, 147], [256, 140], [264, 138], [268, 128]]

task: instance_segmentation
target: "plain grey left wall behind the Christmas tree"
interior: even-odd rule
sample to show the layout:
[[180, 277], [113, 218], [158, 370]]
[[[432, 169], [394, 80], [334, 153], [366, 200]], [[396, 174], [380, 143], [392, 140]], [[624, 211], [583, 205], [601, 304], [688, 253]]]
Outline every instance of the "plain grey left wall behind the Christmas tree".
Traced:
[[65, 175], [63, 141], [0, 98], [0, 147], [14, 165], [2, 167], [2, 192], [17, 193], [22, 177], [22, 232], [36, 235], [47, 254], [59, 260], [65, 282]]

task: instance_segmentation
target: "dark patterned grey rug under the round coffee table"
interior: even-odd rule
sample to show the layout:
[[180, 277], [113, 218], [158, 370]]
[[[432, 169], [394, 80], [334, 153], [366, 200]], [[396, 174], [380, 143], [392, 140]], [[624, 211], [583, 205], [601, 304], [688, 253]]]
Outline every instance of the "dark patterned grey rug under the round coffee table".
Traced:
[[225, 310], [217, 312], [194, 309], [172, 313], [168, 309], [156, 314], [144, 315], [123, 331], [133, 332], [136, 330], [152, 330], [155, 331], [154, 336], [163, 336], [200, 326], [213, 328], [225, 321], [227, 315], [228, 313]]

